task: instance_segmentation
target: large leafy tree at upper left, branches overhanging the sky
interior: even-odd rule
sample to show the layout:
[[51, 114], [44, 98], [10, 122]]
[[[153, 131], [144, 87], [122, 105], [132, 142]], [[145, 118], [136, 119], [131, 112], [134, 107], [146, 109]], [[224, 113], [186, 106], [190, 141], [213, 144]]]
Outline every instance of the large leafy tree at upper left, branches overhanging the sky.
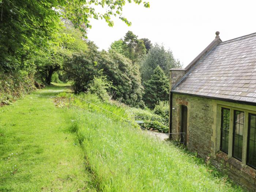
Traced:
[[[49, 47], [53, 34], [59, 30], [61, 20], [69, 21], [75, 28], [86, 33], [90, 20], [104, 19], [113, 26], [112, 16], [119, 16], [127, 25], [131, 23], [122, 16], [126, 0], [0, 0], [0, 70], [15, 71], [24, 67], [29, 54]], [[131, 0], [128, 0], [131, 3]], [[133, 0], [140, 4], [141, 0]], [[95, 7], [106, 10], [98, 13]], [[144, 7], [149, 7], [144, 2]], [[28, 54], [29, 53], [29, 54]]]

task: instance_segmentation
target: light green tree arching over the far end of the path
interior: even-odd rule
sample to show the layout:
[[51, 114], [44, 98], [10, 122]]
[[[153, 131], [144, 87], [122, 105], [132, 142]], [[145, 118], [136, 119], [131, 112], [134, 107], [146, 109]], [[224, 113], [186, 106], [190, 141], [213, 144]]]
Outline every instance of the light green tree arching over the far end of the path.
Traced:
[[54, 72], [63, 69], [64, 60], [72, 53], [85, 52], [87, 44], [81, 31], [72, 26], [60, 27], [54, 34], [54, 41], [49, 42], [49, 48], [42, 48], [36, 59], [37, 76], [46, 84], [52, 82]]

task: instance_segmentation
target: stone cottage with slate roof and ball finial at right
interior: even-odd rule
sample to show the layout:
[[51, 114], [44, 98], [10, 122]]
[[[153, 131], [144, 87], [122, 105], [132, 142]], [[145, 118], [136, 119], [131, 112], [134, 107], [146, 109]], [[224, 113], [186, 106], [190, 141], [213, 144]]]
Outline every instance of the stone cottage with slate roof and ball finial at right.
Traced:
[[256, 33], [222, 41], [217, 31], [185, 69], [170, 69], [169, 133], [256, 191]]

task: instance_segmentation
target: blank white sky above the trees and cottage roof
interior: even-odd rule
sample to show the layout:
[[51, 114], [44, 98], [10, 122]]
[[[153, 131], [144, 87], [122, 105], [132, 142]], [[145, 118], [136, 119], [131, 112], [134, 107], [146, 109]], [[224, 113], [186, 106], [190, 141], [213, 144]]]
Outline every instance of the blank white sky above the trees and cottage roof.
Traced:
[[145, 0], [143, 4], [127, 3], [123, 15], [132, 22], [128, 27], [113, 18], [114, 27], [104, 20], [92, 20], [88, 38], [99, 49], [123, 38], [131, 30], [139, 38], [163, 43], [186, 67], [220, 31], [222, 41], [256, 32], [255, 0]]

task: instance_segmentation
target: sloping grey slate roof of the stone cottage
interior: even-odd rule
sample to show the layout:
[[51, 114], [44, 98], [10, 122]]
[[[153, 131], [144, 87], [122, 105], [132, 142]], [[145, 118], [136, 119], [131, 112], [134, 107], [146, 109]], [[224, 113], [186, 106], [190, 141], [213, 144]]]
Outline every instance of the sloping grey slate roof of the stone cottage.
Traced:
[[256, 103], [256, 33], [219, 42], [172, 92]]

